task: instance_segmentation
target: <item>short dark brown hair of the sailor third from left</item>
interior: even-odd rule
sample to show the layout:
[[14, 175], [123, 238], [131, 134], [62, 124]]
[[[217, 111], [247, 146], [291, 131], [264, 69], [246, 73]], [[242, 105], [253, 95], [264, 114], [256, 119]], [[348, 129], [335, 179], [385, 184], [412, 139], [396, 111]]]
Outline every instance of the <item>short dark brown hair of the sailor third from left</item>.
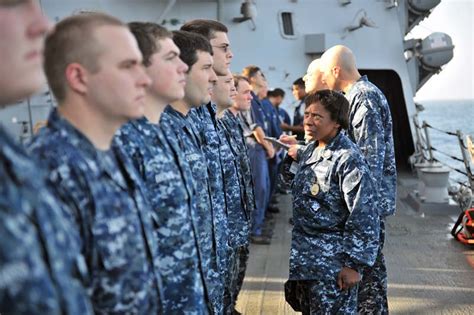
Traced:
[[156, 23], [131, 22], [128, 27], [137, 40], [145, 67], [151, 65], [151, 56], [161, 50], [159, 40], [173, 36], [170, 31]]

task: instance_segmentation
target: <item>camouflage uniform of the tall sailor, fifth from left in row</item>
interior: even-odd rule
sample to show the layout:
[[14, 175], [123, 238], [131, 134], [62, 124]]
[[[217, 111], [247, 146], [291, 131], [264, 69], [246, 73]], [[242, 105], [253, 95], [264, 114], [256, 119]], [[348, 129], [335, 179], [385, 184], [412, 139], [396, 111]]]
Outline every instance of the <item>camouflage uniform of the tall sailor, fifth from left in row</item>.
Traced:
[[222, 277], [227, 279], [229, 258], [232, 251], [229, 244], [228, 213], [220, 156], [222, 141], [216, 130], [216, 106], [209, 103], [192, 108], [186, 119], [196, 130], [196, 136], [199, 139], [201, 150], [206, 159], [211, 187], [212, 209], [215, 217], [214, 233], [217, 238], [217, 262], [220, 266]]

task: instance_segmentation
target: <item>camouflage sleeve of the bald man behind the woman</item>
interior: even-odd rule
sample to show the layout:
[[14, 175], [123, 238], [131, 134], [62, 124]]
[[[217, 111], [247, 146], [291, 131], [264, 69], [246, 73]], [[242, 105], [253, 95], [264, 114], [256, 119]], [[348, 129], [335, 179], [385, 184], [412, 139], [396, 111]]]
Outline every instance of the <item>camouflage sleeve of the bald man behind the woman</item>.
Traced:
[[357, 110], [352, 119], [354, 142], [357, 144], [369, 165], [376, 183], [383, 179], [385, 157], [384, 126], [375, 97], [359, 95], [355, 103]]

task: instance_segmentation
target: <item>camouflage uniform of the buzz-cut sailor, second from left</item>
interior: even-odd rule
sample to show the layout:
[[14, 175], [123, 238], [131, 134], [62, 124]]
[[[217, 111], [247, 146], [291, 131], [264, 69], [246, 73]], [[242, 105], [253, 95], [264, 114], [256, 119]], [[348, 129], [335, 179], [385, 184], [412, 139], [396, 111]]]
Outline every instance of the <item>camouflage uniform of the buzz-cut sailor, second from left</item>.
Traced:
[[54, 193], [66, 204], [89, 267], [85, 283], [97, 314], [161, 312], [161, 279], [150, 209], [141, 181], [120, 150], [99, 151], [56, 110], [33, 139]]

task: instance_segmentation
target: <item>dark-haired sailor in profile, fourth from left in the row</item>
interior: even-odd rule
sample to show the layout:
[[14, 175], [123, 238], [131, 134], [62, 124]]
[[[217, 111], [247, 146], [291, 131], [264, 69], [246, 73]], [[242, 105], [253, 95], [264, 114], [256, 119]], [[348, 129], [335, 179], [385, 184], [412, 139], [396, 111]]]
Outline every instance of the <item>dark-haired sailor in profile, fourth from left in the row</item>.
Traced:
[[[227, 256], [230, 252], [227, 239], [227, 217], [221, 205], [216, 210], [212, 199], [209, 168], [201, 149], [203, 144], [195, 125], [187, 118], [191, 108], [210, 101], [210, 91], [217, 77], [212, 69], [212, 47], [205, 37], [185, 31], [173, 32], [173, 41], [181, 51], [180, 58], [188, 65], [184, 98], [171, 102], [160, 117], [166, 138], [181, 148], [190, 166], [194, 189], [207, 235], [212, 235], [212, 271], [215, 283], [210, 296], [214, 313], [223, 313], [224, 286], [227, 273]], [[216, 212], [221, 211], [218, 215]]]

